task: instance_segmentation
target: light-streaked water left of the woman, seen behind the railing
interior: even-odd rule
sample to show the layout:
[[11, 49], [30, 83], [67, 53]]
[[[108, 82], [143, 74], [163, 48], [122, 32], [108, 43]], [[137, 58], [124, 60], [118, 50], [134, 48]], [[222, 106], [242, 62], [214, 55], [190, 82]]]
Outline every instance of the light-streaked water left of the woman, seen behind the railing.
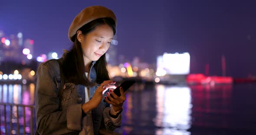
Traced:
[[[35, 85], [21, 85], [21, 84], [3, 84], [0, 85], [0, 102], [2, 103], [14, 103], [14, 104], [24, 104], [24, 105], [34, 105], [35, 97]], [[19, 125], [20, 125], [20, 134], [23, 134], [23, 125], [24, 125], [24, 114], [23, 107], [12, 106], [13, 119], [10, 119], [10, 106], [6, 107], [7, 110], [7, 134], [12, 132], [16, 134], [17, 128], [17, 116], [19, 115]], [[17, 112], [17, 109], [19, 112]], [[19, 113], [19, 114], [18, 114]], [[4, 123], [4, 106], [0, 106], [0, 117], [1, 123]], [[25, 107], [25, 132], [30, 133], [30, 116], [31, 110], [29, 107]], [[33, 109], [33, 121], [35, 121], [35, 110]], [[13, 130], [10, 131], [10, 122], [13, 122]], [[35, 124], [35, 123], [34, 123]], [[36, 125], [33, 125], [35, 131]], [[5, 133], [4, 125], [1, 124], [1, 132]]]

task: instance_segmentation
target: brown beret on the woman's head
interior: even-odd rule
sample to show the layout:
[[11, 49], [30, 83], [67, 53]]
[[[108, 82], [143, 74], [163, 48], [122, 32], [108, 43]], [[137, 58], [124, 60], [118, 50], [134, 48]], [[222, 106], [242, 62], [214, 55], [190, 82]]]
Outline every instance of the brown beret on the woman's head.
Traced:
[[83, 9], [69, 26], [69, 39], [72, 41], [72, 37], [76, 34], [77, 30], [84, 26], [86, 23], [89, 23], [98, 18], [109, 17], [115, 21], [115, 14], [104, 6], [89, 6]]

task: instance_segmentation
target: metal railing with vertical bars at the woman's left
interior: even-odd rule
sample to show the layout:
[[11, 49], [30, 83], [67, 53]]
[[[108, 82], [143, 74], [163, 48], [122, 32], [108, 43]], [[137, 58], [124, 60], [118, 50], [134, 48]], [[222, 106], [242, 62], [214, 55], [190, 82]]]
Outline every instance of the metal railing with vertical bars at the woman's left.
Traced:
[[[30, 134], [33, 135], [33, 109], [35, 106], [32, 105], [23, 105], [23, 104], [13, 104], [13, 103], [0, 103], [0, 106], [4, 108], [4, 128], [5, 128], [5, 135], [7, 135], [7, 106], [10, 106], [10, 134], [13, 134], [13, 106], [17, 107], [17, 135], [20, 135], [20, 122], [19, 122], [19, 107], [23, 108], [23, 134], [26, 135], [26, 107], [30, 108]], [[1, 125], [1, 116], [0, 115], [0, 125]]]

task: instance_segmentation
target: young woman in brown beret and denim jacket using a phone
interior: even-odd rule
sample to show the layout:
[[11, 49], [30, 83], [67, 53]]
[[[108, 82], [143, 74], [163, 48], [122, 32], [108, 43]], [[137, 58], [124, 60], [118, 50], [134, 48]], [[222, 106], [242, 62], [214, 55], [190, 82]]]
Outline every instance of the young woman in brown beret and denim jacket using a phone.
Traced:
[[75, 17], [69, 27], [72, 48], [38, 67], [36, 133], [96, 135], [99, 129], [120, 127], [125, 93], [122, 88], [121, 96], [113, 92], [105, 59], [115, 28], [115, 14], [103, 6], [87, 7]]

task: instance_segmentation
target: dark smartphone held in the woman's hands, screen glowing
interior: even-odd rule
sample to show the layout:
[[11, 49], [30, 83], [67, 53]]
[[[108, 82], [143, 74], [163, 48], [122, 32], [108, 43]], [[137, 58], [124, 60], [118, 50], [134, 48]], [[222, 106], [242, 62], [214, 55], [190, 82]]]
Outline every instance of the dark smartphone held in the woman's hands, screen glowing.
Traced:
[[[123, 90], [124, 90], [124, 92], [125, 92], [125, 91], [128, 90], [134, 83], [135, 83], [135, 80], [125, 80], [125, 81], [123, 81], [120, 85], [118, 85], [118, 87], [115, 88], [114, 93], [115, 93], [117, 96], [121, 96], [120, 87], [122, 87]], [[110, 94], [110, 96], [112, 96], [112, 95]], [[112, 97], [113, 97], [113, 96], [112, 96]], [[110, 100], [110, 99], [108, 98], [108, 100]], [[105, 102], [105, 100], [104, 100], [104, 102]]]

